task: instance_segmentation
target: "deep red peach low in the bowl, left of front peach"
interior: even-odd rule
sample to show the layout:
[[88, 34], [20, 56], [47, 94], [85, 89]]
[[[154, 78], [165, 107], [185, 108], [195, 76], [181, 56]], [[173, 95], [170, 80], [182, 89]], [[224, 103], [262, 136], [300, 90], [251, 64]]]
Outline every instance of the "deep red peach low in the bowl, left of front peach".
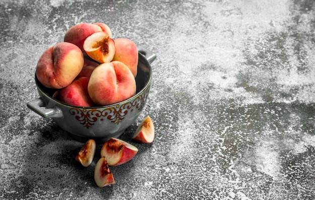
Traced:
[[59, 100], [72, 106], [94, 106], [94, 103], [88, 93], [89, 80], [89, 77], [80, 77], [75, 79], [70, 85], [60, 89]]

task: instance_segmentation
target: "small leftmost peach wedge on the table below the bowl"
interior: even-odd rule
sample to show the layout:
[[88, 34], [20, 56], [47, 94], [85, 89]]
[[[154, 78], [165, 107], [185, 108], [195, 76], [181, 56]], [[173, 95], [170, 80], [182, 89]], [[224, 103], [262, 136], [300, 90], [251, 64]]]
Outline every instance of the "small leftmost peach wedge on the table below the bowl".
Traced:
[[94, 158], [96, 143], [94, 140], [88, 140], [75, 157], [75, 160], [84, 167], [88, 167]]

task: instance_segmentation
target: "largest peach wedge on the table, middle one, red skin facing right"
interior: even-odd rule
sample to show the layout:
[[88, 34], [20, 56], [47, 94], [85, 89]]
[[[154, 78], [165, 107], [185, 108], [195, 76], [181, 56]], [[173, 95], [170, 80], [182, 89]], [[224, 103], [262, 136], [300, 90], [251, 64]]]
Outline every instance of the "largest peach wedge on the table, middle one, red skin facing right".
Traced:
[[101, 156], [105, 157], [108, 165], [117, 166], [131, 160], [138, 152], [138, 149], [122, 140], [111, 138], [106, 141], [101, 149]]

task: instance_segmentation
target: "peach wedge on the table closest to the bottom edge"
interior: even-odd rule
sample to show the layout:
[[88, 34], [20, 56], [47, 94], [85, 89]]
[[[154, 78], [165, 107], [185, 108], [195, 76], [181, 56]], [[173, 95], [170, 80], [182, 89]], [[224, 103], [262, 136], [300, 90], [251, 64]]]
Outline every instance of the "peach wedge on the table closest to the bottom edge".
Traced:
[[109, 170], [105, 157], [100, 158], [96, 163], [94, 169], [94, 180], [99, 187], [104, 187], [115, 183], [113, 174]]

